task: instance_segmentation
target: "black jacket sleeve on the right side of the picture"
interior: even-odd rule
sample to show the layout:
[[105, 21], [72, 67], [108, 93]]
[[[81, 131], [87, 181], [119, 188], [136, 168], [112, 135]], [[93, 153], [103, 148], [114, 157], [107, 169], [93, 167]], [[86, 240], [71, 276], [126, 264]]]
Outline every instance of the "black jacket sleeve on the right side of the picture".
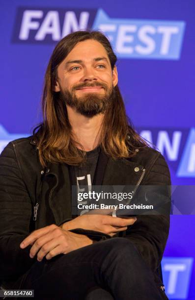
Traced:
[[[163, 155], [159, 155], [149, 174], [147, 174], [143, 185], [161, 186], [159, 193], [162, 190], [167, 191], [166, 196], [169, 200], [167, 213], [163, 215], [138, 215], [134, 225], [128, 226], [125, 238], [135, 245], [151, 270], [156, 271], [165, 250], [170, 218], [171, 183], [169, 169]], [[165, 186], [165, 189], [162, 189], [162, 185]]]

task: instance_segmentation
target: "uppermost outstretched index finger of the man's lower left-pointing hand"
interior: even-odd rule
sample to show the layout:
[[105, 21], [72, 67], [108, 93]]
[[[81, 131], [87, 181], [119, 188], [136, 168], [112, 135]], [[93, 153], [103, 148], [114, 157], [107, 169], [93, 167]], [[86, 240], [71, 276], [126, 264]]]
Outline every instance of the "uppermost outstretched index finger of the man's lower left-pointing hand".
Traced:
[[28, 237], [26, 237], [22, 243], [20, 244], [20, 248], [24, 249], [26, 248], [28, 245], [33, 244], [38, 238], [40, 238], [41, 236], [47, 234], [48, 232], [51, 232], [52, 230], [54, 230], [57, 226], [52, 224], [40, 229], [37, 229], [35, 231], [33, 231], [32, 233], [30, 233], [28, 235]]

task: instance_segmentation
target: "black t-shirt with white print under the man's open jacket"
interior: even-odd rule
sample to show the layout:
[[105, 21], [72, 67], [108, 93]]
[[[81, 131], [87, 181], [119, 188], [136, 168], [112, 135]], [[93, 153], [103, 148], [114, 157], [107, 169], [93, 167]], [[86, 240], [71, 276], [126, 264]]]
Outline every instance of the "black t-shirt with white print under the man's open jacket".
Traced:
[[[79, 166], [70, 166], [70, 177], [71, 184], [80, 186], [91, 186], [93, 184], [93, 178], [95, 175], [95, 170], [98, 162], [98, 157], [100, 153], [100, 147], [86, 151], [85, 162]], [[79, 189], [78, 192], [88, 192], [84, 188]], [[86, 200], [80, 201], [81, 204], [88, 204]], [[82, 210], [79, 214], [82, 215], [85, 212], [89, 211], [88, 209]]]

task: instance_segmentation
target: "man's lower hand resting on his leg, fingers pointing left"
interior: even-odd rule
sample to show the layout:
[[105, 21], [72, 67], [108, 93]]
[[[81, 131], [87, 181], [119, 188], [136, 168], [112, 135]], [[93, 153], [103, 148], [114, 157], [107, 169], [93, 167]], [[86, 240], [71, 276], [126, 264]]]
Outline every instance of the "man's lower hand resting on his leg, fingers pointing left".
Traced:
[[32, 245], [30, 257], [33, 258], [38, 252], [37, 260], [41, 261], [45, 255], [46, 259], [51, 259], [57, 254], [66, 254], [92, 243], [93, 241], [83, 234], [76, 234], [53, 224], [30, 233], [20, 247], [24, 249]]

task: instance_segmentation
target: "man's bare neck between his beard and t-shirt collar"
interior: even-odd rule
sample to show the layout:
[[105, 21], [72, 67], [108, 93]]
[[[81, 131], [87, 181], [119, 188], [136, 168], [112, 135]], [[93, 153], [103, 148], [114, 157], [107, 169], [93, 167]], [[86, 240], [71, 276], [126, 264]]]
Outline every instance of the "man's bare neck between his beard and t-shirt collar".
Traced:
[[[98, 114], [92, 118], [87, 118], [68, 105], [67, 113], [74, 140], [84, 147], [84, 151], [95, 149], [100, 143], [104, 115]], [[81, 149], [79, 146], [77, 147]]]

